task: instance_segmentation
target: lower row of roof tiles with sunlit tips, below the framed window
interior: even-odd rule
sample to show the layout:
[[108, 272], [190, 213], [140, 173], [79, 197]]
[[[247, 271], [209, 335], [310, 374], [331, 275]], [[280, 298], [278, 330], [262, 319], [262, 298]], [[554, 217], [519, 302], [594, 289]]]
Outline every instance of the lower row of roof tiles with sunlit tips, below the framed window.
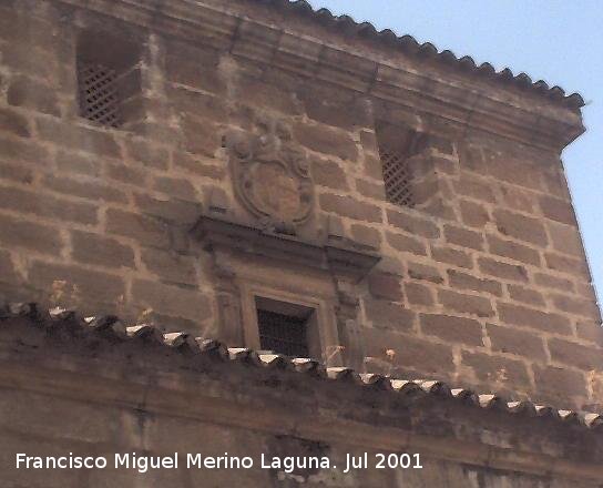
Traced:
[[[532, 401], [509, 401], [498, 395], [479, 395], [467, 388], [451, 388], [443, 382], [426, 379], [390, 378], [378, 374], [360, 374], [347, 367], [325, 367], [319, 362], [303, 357], [288, 357], [280, 354], [255, 352], [244, 347], [226, 345], [190, 334], [176, 332], [163, 334], [156, 326], [142, 324], [124, 326], [115, 316], [80, 317], [74, 311], [52, 308], [45, 311], [35, 303], [7, 304], [0, 306], [0, 326], [11, 318], [29, 318], [31, 326], [43, 329], [64, 327], [74, 337], [83, 337], [88, 332], [114, 340], [142, 339], [184, 353], [211, 355], [223, 362], [243, 363], [249, 367], [288, 369], [303, 375], [310, 375], [324, 380], [347, 382], [358, 387], [379, 388], [395, 392], [409, 398], [433, 396], [453, 399], [467, 406], [500, 410], [511, 415], [534, 418], [552, 418], [562, 424], [582, 426], [590, 429], [601, 428], [603, 416], [592, 413], [555, 409], [551, 406], [535, 405]], [[84, 334], [82, 334], [84, 333]]]

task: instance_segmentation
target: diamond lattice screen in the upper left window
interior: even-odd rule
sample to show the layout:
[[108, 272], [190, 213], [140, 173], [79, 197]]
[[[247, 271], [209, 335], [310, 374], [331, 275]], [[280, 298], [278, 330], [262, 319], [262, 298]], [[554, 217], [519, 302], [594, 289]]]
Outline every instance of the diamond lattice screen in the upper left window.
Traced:
[[120, 125], [115, 80], [115, 71], [103, 65], [79, 67], [80, 112], [83, 118], [112, 128]]

